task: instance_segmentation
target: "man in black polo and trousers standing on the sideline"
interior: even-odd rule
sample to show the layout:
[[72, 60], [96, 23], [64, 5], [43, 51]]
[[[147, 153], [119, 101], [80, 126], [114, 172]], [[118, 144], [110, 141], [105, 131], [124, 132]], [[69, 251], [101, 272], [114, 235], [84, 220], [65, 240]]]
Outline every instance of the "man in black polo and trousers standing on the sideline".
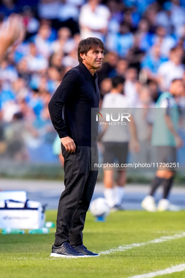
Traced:
[[54, 257], [99, 256], [83, 245], [82, 231], [98, 174], [91, 171], [92, 163], [98, 161], [97, 138], [91, 140], [91, 108], [99, 107], [95, 71], [103, 58], [100, 39], [82, 39], [78, 45], [80, 64], [64, 75], [49, 102], [51, 121], [62, 143], [65, 173], [51, 253]]

